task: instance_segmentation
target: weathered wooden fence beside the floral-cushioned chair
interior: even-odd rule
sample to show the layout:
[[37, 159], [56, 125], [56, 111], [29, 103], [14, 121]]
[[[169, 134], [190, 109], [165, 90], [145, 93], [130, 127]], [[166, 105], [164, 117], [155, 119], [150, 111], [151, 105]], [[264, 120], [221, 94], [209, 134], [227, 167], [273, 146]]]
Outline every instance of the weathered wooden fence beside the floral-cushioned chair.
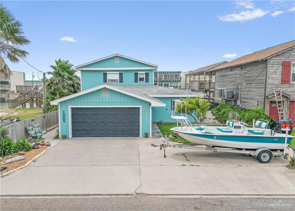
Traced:
[[12, 123], [10, 125], [4, 126], [4, 128], [7, 128], [9, 132], [9, 137], [12, 138], [13, 141], [17, 141], [24, 138], [25, 136], [28, 136], [26, 127], [35, 124], [39, 124], [42, 130], [48, 129], [54, 125], [58, 125], [58, 111], [53, 111], [47, 114], [33, 117], [31, 119]]

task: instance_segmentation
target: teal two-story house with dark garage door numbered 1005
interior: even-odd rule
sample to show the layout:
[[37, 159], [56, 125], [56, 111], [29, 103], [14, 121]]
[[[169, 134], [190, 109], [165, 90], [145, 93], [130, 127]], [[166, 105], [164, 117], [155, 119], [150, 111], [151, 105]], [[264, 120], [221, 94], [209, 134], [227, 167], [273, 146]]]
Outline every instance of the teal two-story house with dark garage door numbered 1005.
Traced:
[[151, 137], [151, 124], [174, 122], [173, 99], [204, 94], [153, 85], [157, 65], [114, 54], [79, 66], [81, 91], [54, 101], [60, 135]]

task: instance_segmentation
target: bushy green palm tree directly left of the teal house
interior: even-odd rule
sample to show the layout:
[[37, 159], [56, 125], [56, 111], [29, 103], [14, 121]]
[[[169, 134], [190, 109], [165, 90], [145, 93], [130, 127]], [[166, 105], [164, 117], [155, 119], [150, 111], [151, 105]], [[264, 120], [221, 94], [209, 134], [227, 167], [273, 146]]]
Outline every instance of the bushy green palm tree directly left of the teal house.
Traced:
[[46, 80], [47, 112], [58, 109], [49, 102], [80, 91], [80, 79], [75, 75], [77, 70], [68, 60], [55, 60], [55, 65], [50, 66], [53, 71], [48, 74], [51, 78]]

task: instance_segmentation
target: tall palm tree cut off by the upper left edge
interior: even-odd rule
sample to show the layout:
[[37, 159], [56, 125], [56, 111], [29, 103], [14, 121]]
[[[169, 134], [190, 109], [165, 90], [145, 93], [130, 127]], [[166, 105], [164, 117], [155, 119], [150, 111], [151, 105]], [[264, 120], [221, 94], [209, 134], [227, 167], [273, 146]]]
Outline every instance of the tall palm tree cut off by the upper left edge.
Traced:
[[14, 15], [0, 3], [0, 78], [6, 79], [12, 75], [4, 61], [8, 58], [13, 63], [18, 63], [19, 58], [25, 58], [29, 53], [19, 49], [28, 45], [30, 40], [22, 36], [22, 23], [15, 20]]

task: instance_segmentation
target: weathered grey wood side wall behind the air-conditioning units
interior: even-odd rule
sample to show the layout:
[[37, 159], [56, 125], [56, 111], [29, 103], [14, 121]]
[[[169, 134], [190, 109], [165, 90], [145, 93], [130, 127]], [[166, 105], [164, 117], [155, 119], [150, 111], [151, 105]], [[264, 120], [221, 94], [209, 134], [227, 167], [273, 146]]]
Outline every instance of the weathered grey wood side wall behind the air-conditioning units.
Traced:
[[[265, 78], [266, 78], [266, 63], [267, 61], [264, 61], [263, 63], [259, 63], [259, 62], [249, 63], [246, 65], [243, 65], [243, 66], [246, 66], [246, 68], [243, 70], [240, 69], [241, 66], [235, 66], [235, 67], [225, 68], [222, 70], [217, 70], [215, 74], [215, 91], [214, 91], [215, 102], [219, 102], [219, 103], [222, 102], [221, 97], [217, 97], [217, 90], [219, 88], [235, 91], [235, 88], [237, 87], [238, 82], [240, 81], [242, 107], [245, 107], [245, 108], [254, 108], [257, 106], [263, 107]], [[235, 70], [231, 72], [230, 69], [232, 68], [235, 68]], [[239, 89], [237, 89], [237, 98], [239, 99]], [[225, 103], [225, 100], [223, 102]], [[232, 103], [231, 101], [228, 101], [228, 102]]]

